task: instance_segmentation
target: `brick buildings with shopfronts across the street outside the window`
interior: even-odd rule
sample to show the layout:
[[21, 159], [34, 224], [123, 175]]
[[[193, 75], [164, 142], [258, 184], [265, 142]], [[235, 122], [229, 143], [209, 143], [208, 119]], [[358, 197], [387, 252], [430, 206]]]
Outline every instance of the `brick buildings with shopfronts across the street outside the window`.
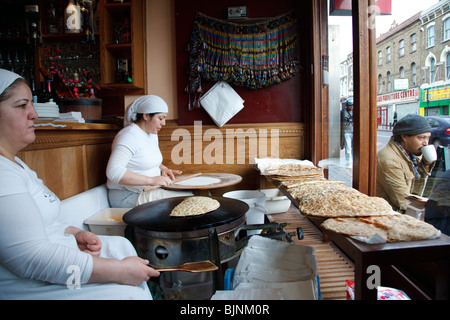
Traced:
[[[349, 83], [349, 61], [341, 62], [341, 88]], [[390, 127], [410, 113], [448, 115], [450, 1], [439, 1], [380, 35], [377, 69], [379, 126]], [[348, 92], [341, 89], [341, 97]]]

